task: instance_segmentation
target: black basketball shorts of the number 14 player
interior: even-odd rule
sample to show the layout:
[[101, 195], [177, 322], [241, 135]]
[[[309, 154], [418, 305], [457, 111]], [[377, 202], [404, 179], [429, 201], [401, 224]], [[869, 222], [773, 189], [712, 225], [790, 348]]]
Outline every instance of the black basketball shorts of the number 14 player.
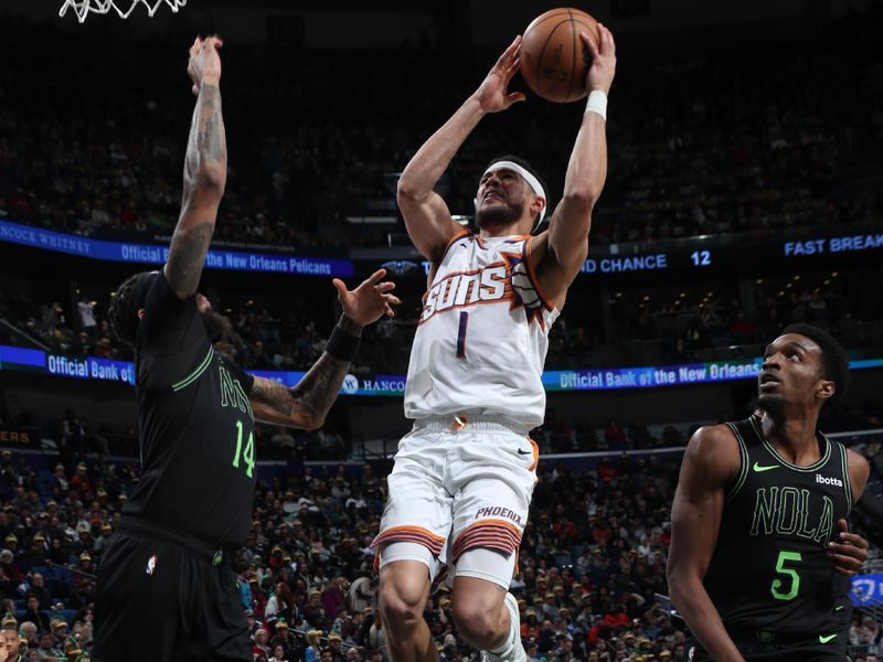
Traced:
[[125, 521], [98, 567], [94, 662], [252, 662], [230, 554]]

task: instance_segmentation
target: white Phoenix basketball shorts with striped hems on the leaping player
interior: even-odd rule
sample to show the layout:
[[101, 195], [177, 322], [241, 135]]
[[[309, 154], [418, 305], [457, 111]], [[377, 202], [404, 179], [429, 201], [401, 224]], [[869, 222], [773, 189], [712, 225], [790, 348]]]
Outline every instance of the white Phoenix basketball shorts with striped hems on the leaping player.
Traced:
[[385, 544], [409, 542], [448, 566], [475, 548], [498, 552], [509, 565], [528, 521], [538, 459], [526, 430], [502, 417], [416, 421], [386, 479], [386, 508], [372, 543], [379, 560]]

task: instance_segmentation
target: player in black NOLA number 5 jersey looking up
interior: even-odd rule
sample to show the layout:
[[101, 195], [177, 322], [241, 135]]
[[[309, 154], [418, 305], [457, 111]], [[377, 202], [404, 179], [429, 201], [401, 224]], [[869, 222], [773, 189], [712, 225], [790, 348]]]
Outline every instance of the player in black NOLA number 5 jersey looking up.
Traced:
[[847, 659], [847, 576], [868, 543], [845, 517], [870, 469], [817, 424], [848, 380], [837, 341], [792, 324], [766, 348], [760, 414], [690, 440], [668, 564], [671, 599], [698, 640], [690, 660]]

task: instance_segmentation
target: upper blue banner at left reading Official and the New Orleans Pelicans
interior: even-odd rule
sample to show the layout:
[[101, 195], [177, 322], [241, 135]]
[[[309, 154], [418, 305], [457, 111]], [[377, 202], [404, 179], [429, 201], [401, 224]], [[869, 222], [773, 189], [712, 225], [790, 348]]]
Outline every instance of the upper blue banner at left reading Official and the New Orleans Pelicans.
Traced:
[[[162, 265], [169, 257], [168, 246], [89, 239], [2, 220], [0, 220], [0, 241], [79, 257], [141, 265]], [[351, 259], [242, 250], [209, 250], [205, 256], [205, 268], [339, 278], [349, 278], [353, 274]]]

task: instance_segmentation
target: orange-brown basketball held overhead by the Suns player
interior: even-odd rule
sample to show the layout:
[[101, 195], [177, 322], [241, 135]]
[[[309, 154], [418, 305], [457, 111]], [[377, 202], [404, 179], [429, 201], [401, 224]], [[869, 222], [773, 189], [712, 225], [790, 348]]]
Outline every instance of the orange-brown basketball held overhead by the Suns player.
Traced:
[[551, 9], [528, 25], [521, 41], [521, 75], [535, 94], [556, 104], [586, 96], [592, 54], [581, 32], [598, 43], [597, 21], [572, 8]]

